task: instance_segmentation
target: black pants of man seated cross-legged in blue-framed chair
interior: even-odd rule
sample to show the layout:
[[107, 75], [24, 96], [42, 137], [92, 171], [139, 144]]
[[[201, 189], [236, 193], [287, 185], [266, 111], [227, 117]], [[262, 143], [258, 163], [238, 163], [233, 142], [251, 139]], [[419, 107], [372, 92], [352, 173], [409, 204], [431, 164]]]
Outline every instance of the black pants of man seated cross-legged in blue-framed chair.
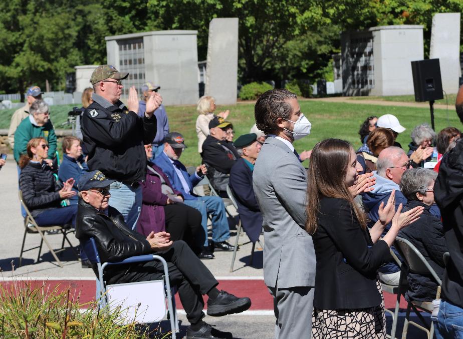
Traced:
[[[204, 317], [202, 295], [217, 286], [218, 281], [184, 241], [175, 241], [170, 249], [155, 254], [167, 261], [170, 285], [177, 286], [188, 321], [198, 322]], [[164, 275], [164, 268], [160, 261], [131, 265], [127, 272], [125, 272], [127, 266], [120, 267], [125, 274], [114, 272], [119, 278], [116, 281], [110, 280], [110, 284], [159, 280]]]

